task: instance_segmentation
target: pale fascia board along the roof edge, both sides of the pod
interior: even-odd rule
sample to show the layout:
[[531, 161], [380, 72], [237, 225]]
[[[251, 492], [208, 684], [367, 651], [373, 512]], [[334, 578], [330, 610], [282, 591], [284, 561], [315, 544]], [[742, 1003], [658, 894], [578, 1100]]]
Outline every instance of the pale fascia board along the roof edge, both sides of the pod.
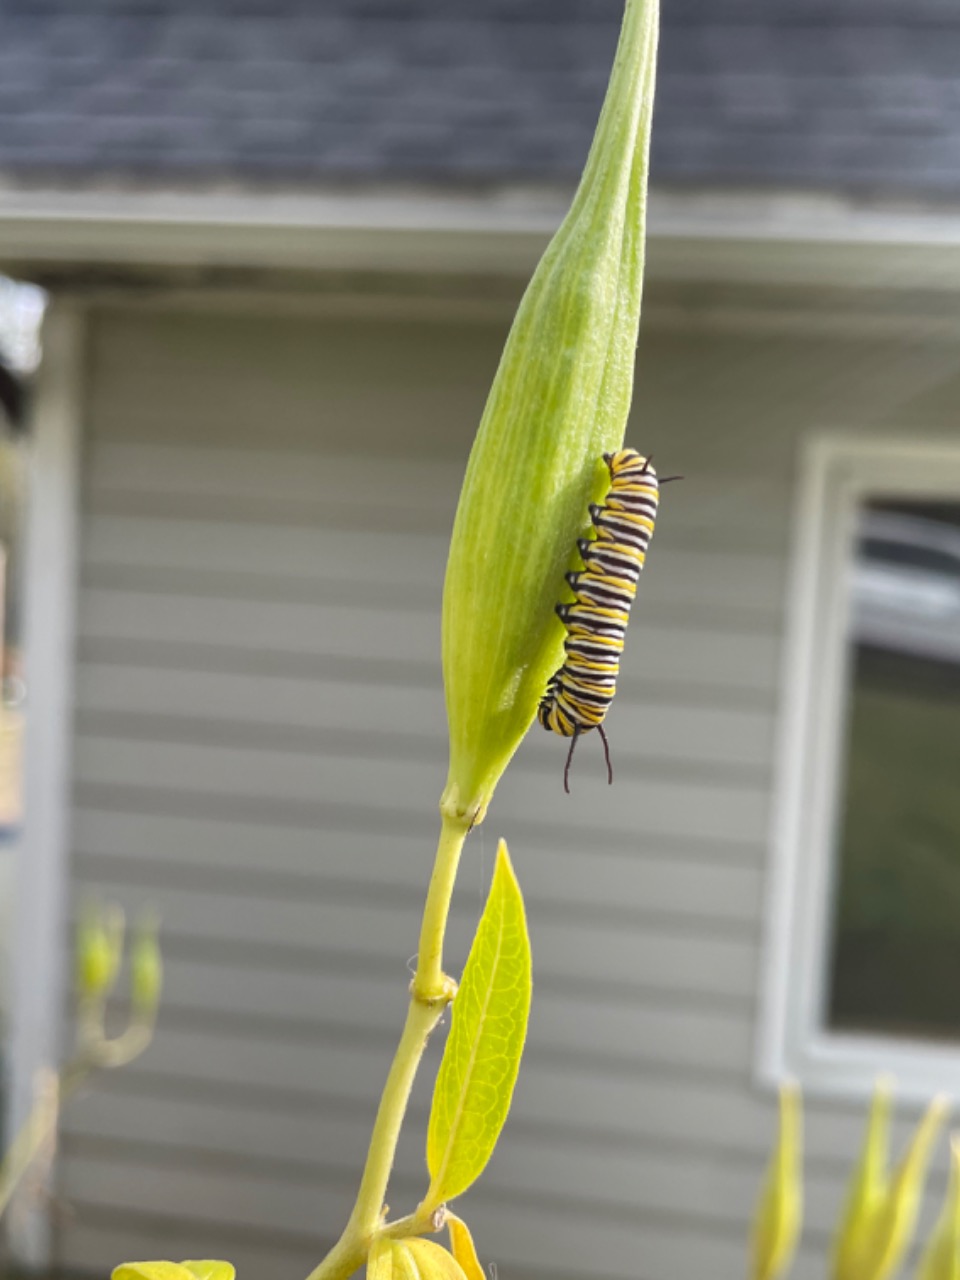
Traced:
[[[0, 266], [529, 275], [570, 189], [326, 193], [0, 188]], [[653, 279], [956, 289], [960, 210], [654, 191]]]

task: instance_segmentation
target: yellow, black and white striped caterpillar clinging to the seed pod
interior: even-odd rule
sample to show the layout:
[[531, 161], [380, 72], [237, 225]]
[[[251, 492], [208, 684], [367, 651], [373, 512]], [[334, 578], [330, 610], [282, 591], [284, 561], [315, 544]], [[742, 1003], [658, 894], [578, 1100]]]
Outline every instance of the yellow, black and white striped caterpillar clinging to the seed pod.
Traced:
[[603, 718], [617, 691], [630, 605], [659, 503], [659, 484], [650, 458], [635, 449], [621, 449], [604, 453], [603, 461], [611, 474], [611, 488], [603, 506], [590, 504], [596, 538], [577, 541], [584, 568], [566, 575], [575, 599], [557, 605], [557, 616], [567, 628], [563, 641], [567, 657], [550, 678], [538, 710], [544, 728], [571, 739], [563, 769], [567, 792], [573, 748], [580, 735], [591, 728], [600, 732], [607, 781], [613, 782]]

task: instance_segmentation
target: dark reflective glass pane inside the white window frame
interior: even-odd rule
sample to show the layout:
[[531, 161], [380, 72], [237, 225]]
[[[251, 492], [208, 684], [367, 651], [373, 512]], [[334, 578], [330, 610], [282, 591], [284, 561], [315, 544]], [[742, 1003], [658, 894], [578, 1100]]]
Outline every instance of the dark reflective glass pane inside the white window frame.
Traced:
[[867, 503], [827, 1016], [960, 1039], [960, 503]]

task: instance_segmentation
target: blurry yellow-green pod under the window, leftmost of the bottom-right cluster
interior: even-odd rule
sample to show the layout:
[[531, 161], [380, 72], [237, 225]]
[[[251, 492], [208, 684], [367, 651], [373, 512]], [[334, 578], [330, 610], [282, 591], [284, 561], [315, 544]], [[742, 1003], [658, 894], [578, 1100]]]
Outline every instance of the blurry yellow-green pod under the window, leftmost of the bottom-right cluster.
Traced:
[[804, 1206], [801, 1128], [800, 1089], [794, 1083], [782, 1084], [780, 1134], [754, 1219], [754, 1280], [776, 1280], [794, 1258]]

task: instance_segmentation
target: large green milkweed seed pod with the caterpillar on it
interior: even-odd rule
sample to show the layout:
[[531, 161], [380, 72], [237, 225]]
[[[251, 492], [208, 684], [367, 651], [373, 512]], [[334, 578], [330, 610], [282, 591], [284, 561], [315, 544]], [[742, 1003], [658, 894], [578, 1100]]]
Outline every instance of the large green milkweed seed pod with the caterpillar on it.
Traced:
[[584, 177], [524, 296], [453, 527], [443, 812], [483, 818], [562, 657], [554, 614], [632, 394], [658, 0], [627, 0]]

